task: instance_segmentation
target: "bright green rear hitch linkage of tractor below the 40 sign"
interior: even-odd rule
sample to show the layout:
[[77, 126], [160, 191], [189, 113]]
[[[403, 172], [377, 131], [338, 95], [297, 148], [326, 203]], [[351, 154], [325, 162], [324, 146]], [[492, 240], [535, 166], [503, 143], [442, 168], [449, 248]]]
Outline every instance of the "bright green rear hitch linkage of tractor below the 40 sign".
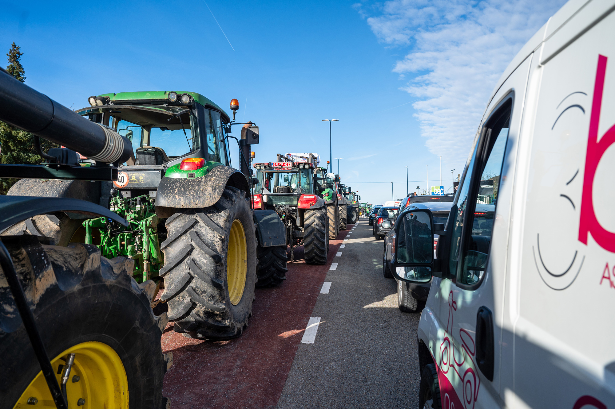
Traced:
[[94, 229], [100, 233], [101, 255], [108, 259], [124, 256], [135, 260], [132, 276], [138, 283], [156, 278], [164, 263], [158, 241], [157, 226], [159, 219], [154, 212], [154, 203], [149, 195], [124, 198], [115, 195], [111, 198], [111, 211], [124, 217], [128, 227], [106, 217], [97, 217], [83, 222], [85, 243], [95, 244]]

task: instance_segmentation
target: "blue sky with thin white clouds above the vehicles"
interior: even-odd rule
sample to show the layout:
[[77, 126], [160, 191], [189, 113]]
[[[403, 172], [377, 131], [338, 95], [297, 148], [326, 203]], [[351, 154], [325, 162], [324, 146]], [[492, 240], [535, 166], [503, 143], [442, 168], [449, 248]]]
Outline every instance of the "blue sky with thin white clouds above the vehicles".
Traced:
[[[0, 2], [0, 50], [66, 106], [109, 92], [190, 90], [260, 126], [256, 160], [333, 157], [363, 201], [451, 184], [491, 90], [563, 1]], [[227, 39], [228, 37], [228, 39]], [[229, 44], [230, 43], [230, 44]], [[6, 65], [4, 63], [3, 65]], [[234, 142], [234, 141], [232, 141]], [[237, 149], [234, 165], [237, 166]], [[337, 161], [334, 161], [337, 173]], [[384, 182], [384, 183], [359, 183]]]

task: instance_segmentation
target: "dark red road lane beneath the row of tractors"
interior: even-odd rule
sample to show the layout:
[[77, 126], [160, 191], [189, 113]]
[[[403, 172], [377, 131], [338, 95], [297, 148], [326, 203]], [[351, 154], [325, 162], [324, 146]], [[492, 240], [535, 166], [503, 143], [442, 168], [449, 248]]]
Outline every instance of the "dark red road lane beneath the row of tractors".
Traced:
[[173, 353], [173, 366], [162, 391], [173, 409], [276, 406], [322, 283], [349, 230], [329, 242], [325, 265], [306, 264], [303, 246], [298, 247], [284, 283], [256, 289], [252, 317], [241, 337], [194, 340], [167, 325], [162, 351]]

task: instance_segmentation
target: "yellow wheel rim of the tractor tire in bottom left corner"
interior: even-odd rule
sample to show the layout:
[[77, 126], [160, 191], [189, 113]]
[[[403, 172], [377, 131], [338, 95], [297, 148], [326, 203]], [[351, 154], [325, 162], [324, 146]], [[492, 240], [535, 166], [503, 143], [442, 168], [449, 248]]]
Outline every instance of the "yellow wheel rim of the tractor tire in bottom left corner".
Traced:
[[[128, 379], [122, 360], [110, 346], [97, 341], [77, 344], [66, 349], [55, 357], [51, 364], [54, 369], [65, 363], [68, 354], [75, 354], [74, 364], [71, 368], [68, 383], [66, 383], [66, 396], [69, 408], [128, 408]], [[62, 359], [63, 358], [63, 359]], [[74, 376], [79, 376], [76, 380]], [[55, 375], [58, 384], [62, 382], [62, 375]], [[82, 405], [77, 406], [77, 402]], [[36, 400], [36, 404], [33, 403]], [[55, 408], [49, 388], [42, 372], [34, 377], [25, 392], [17, 401], [17, 408]]]

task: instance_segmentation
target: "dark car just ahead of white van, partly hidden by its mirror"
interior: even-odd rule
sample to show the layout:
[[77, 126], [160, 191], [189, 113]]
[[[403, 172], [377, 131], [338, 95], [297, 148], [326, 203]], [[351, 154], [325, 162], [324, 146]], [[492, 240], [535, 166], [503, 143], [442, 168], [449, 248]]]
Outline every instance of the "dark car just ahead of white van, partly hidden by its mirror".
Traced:
[[[442, 197], [442, 196], [440, 196]], [[453, 201], [432, 201], [430, 202], [418, 202], [411, 203], [410, 208], [415, 209], [429, 209], [434, 216], [434, 223], [442, 223], [446, 225], [448, 214], [453, 206]], [[486, 241], [491, 239], [491, 227], [493, 226], [493, 212], [495, 206], [493, 204], [477, 204], [475, 214], [478, 217], [474, 219], [473, 234], [486, 236]], [[383, 275], [386, 278], [393, 278], [391, 273], [391, 247], [393, 239], [395, 237], [395, 231], [392, 230], [384, 238], [384, 251], [383, 251]], [[438, 244], [438, 235], [434, 234], [434, 257], [435, 247]], [[411, 268], [411, 267], [400, 267]], [[415, 313], [418, 310], [419, 301], [426, 301], [427, 295], [429, 295], [429, 287], [431, 287], [431, 280], [421, 284], [413, 284], [406, 281], [397, 280], [397, 306], [400, 311], [405, 313]]]

